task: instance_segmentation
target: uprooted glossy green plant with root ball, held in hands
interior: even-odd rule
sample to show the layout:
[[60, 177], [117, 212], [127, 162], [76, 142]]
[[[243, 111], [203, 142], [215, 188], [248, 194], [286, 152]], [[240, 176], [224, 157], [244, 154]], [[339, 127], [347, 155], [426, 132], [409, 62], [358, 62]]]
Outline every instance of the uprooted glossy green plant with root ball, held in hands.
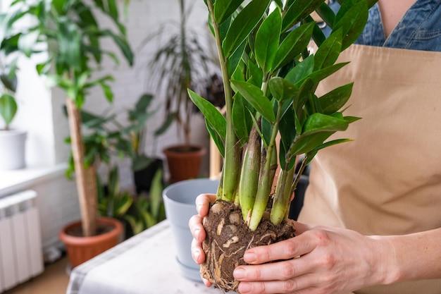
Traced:
[[[319, 150], [349, 141], [326, 140], [359, 119], [344, 116], [341, 110], [352, 83], [323, 97], [314, 93], [321, 80], [346, 64], [334, 63], [364, 29], [374, 1], [342, 1], [337, 15], [323, 0], [285, 4], [252, 0], [244, 8], [241, 0], [205, 2], [218, 47], [227, 112], [224, 118], [189, 90], [225, 158], [218, 200], [204, 220], [206, 263], [201, 274], [228, 291], [238, 286], [232, 271], [244, 263], [247, 248], [294, 236], [287, 212], [306, 165]], [[269, 11], [272, 2], [276, 7]], [[311, 18], [313, 11], [332, 27], [328, 38]], [[307, 49], [311, 38], [318, 47], [315, 55]], [[280, 149], [275, 144], [278, 134]], [[296, 176], [294, 166], [301, 155]]]

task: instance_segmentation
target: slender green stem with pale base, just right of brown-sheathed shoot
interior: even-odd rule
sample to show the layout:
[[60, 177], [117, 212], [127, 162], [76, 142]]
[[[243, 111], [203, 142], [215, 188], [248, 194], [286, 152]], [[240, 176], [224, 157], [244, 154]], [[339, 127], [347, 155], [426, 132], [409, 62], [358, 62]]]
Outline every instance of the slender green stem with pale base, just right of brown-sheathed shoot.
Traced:
[[254, 202], [253, 211], [251, 213], [251, 221], [249, 222], [249, 228], [251, 231], [256, 231], [257, 226], [261, 222], [263, 213], [266, 209], [266, 204], [268, 204], [268, 198], [271, 192], [271, 185], [273, 185], [272, 166], [273, 166], [273, 156], [277, 159], [277, 152], [273, 152], [275, 148], [275, 137], [277, 136], [279, 130], [280, 116], [282, 115], [282, 105], [278, 103], [278, 111], [275, 117], [275, 123], [273, 125], [273, 130], [271, 132], [271, 140], [266, 150], [266, 160], [263, 166], [263, 172], [261, 173], [261, 178], [259, 179], [260, 185], [257, 189], [256, 201]]

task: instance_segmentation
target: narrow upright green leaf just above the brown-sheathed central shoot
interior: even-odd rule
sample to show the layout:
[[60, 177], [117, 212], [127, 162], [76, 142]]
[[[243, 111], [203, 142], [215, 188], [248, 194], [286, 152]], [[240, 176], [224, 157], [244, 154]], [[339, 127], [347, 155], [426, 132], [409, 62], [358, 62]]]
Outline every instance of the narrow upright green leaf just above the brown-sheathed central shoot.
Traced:
[[232, 104], [232, 125], [242, 145], [247, 144], [249, 132], [251, 131], [251, 118], [244, 105], [244, 97], [236, 93]]

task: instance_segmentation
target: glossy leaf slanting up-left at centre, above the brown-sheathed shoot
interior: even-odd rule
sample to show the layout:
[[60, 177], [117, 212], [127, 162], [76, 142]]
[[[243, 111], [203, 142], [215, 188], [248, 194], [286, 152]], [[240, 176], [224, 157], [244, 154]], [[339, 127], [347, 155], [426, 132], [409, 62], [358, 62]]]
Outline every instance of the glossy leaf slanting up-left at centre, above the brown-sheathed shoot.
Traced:
[[271, 123], [275, 122], [275, 115], [273, 112], [273, 105], [270, 100], [263, 94], [263, 92], [252, 85], [249, 82], [240, 82], [232, 80], [232, 85], [242, 94], [242, 96], [247, 99], [249, 104], [253, 106], [256, 111], [258, 111], [264, 118], [266, 118]]

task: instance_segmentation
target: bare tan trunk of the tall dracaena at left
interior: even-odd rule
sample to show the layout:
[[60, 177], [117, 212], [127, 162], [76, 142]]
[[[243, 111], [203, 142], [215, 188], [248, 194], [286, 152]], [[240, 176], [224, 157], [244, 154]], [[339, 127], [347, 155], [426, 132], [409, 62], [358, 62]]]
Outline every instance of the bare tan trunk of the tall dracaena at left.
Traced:
[[85, 150], [81, 135], [80, 111], [72, 99], [67, 99], [66, 104], [78, 197], [80, 199], [82, 233], [87, 237], [97, 233], [97, 178], [94, 166], [86, 168], [84, 164]]

